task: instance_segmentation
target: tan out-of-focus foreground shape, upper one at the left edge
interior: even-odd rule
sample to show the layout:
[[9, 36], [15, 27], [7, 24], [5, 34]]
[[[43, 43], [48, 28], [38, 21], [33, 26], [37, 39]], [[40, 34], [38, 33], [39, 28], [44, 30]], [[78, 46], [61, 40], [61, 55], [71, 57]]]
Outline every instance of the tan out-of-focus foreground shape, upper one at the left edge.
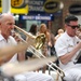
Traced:
[[0, 59], [8, 57], [10, 55], [14, 55], [15, 53], [23, 52], [27, 50], [27, 43], [19, 43], [16, 45], [9, 45], [0, 49]]

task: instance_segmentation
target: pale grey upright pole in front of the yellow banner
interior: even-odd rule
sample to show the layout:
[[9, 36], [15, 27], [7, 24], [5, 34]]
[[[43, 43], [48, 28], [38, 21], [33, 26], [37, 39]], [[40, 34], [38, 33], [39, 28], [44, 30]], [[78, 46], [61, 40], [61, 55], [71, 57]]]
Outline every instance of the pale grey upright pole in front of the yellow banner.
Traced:
[[11, 0], [2, 0], [2, 13], [11, 13]]

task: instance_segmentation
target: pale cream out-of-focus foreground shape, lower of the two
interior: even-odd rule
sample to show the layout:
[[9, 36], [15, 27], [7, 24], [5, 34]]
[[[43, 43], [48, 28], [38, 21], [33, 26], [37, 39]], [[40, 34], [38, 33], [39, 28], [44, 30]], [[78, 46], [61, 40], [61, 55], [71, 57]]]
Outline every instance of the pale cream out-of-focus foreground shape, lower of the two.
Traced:
[[3, 75], [12, 77], [18, 73], [36, 70], [50, 62], [55, 62], [56, 57], [35, 58], [25, 62], [8, 63], [1, 66]]

